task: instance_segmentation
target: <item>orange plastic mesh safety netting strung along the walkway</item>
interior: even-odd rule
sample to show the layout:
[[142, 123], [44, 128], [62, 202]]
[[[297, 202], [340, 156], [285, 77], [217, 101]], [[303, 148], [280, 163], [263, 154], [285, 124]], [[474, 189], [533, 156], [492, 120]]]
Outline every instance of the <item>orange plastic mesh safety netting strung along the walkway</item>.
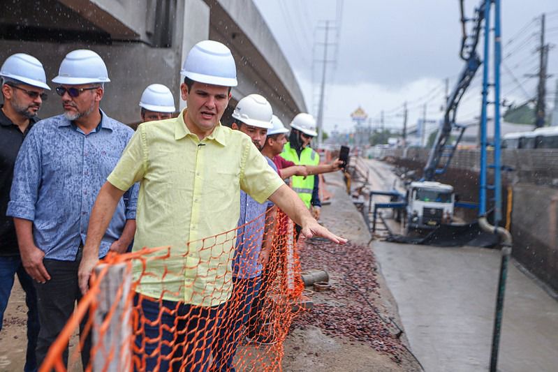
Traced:
[[[281, 370], [283, 341], [303, 308], [304, 285], [294, 223], [281, 211], [274, 221], [264, 221], [259, 216], [236, 230], [190, 242], [182, 253], [170, 247], [110, 253], [94, 270], [89, 291], [40, 371], [73, 371], [82, 359], [85, 371]], [[243, 240], [242, 252], [257, 257], [256, 237], [266, 226], [272, 233], [267, 265], [249, 278], [258, 270], [243, 273], [248, 261], [240, 262], [233, 278], [234, 262], [239, 263], [235, 241]], [[157, 287], [161, 282], [166, 284]], [[160, 288], [159, 296], [153, 288]], [[173, 301], [177, 296], [184, 301]], [[85, 328], [78, 341], [80, 322]], [[87, 337], [91, 349], [82, 350], [80, 358]]]

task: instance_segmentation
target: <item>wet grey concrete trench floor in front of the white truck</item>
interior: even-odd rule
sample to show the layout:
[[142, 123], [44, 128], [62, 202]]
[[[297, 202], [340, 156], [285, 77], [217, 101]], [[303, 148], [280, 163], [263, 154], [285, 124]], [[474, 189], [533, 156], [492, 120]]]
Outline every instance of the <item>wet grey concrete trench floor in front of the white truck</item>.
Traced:
[[[426, 371], [486, 371], [499, 251], [372, 244], [411, 350]], [[500, 371], [558, 370], [558, 302], [509, 266]]]

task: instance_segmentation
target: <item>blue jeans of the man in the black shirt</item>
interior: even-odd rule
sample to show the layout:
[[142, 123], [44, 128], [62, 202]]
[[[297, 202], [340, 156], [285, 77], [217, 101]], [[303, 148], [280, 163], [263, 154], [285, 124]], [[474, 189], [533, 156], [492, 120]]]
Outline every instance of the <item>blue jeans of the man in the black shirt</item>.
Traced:
[[33, 285], [33, 279], [25, 271], [19, 256], [0, 257], [0, 332], [4, 311], [8, 306], [8, 299], [12, 291], [15, 275], [25, 291], [25, 304], [27, 304], [27, 357], [25, 359], [25, 372], [37, 370], [37, 359], [35, 348], [39, 332], [37, 295]]

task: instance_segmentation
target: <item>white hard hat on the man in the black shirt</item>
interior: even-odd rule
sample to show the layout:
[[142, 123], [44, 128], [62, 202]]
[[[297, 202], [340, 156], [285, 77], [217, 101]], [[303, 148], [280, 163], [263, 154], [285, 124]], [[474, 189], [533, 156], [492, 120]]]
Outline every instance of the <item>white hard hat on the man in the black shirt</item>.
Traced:
[[50, 90], [43, 64], [29, 54], [17, 53], [8, 57], [0, 69], [0, 76]]

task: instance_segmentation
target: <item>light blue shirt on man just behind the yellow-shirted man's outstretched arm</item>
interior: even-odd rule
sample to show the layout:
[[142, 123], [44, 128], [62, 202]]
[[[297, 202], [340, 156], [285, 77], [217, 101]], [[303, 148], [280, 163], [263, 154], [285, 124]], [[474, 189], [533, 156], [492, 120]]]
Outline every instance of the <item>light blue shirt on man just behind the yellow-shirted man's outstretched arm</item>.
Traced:
[[[277, 172], [277, 166], [270, 158], [265, 157], [271, 168]], [[262, 272], [258, 257], [263, 243], [265, 229], [265, 211], [273, 205], [269, 200], [260, 204], [244, 191], [240, 191], [240, 218], [235, 247], [233, 276], [235, 278], [256, 278]], [[257, 218], [255, 221], [254, 218]], [[251, 223], [249, 223], [252, 221]], [[248, 225], [245, 225], [249, 223]]]

